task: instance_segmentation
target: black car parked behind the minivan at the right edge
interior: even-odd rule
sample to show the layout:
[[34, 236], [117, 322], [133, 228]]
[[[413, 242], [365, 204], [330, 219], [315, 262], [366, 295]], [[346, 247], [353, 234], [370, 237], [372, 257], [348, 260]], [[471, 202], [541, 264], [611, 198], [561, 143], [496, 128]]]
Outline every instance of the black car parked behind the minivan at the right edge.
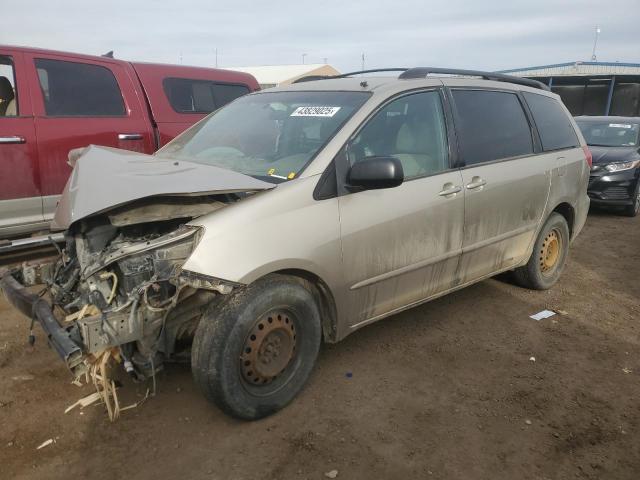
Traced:
[[640, 212], [640, 117], [576, 117], [593, 154], [589, 197], [593, 205]]

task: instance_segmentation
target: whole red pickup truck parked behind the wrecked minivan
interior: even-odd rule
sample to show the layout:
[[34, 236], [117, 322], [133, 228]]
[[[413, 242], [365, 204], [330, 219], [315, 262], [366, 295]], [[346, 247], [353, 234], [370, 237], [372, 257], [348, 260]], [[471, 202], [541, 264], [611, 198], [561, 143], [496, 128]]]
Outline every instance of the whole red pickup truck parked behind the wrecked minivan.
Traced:
[[0, 45], [0, 238], [47, 228], [71, 149], [152, 153], [258, 88], [246, 73]]

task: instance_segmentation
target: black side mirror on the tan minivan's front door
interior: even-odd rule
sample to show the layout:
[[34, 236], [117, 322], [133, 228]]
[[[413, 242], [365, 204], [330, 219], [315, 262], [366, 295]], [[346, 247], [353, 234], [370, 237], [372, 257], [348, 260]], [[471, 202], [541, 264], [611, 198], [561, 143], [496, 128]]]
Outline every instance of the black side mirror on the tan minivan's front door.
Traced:
[[365, 157], [347, 174], [349, 186], [364, 190], [397, 187], [403, 181], [402, 164], [395, 157]]

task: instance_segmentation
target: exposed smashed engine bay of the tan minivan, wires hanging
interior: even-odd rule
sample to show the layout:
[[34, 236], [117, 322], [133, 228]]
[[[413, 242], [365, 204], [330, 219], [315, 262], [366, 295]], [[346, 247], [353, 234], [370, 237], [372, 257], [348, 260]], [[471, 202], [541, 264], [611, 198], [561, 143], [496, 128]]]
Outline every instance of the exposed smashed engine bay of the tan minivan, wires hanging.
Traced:
[[23, 285], [46, 285], [41, 295], [82, 350], [68, 367], [93, 377], [110, 416], [115, 386], [104, 363], [114, 358], [142, 381], [166, 361], [188, 361], [205, 307], [236, 288], [182, 270], [202, 234], [186, 223], [246, 195], [154, 197], [91, 216], [71, 225], [55, 261], [14, 273]]

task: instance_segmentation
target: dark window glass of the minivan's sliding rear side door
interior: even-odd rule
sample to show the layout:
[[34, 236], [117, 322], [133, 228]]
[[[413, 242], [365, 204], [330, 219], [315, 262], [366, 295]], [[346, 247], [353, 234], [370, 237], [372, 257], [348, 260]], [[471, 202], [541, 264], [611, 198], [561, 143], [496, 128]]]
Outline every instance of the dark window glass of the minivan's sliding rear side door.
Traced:
[[453, 90], [462, 158], [466, 165], [533, 153], [531, 127], [517, 95]]

